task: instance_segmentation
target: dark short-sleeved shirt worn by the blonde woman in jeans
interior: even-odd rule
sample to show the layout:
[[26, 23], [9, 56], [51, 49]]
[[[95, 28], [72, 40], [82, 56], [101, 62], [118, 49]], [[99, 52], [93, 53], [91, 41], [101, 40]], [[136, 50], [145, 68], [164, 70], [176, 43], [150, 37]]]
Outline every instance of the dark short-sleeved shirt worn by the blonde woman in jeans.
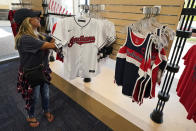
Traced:
[[46, 41], [51, 41], [51, 37], [44, 35], [45, 40], [34, 38], [30, 35], [23, 35], [19, 39], [18, 51], [20, 55], [20, 66], [32, 68], [40, 64], [48, 65], [48, 50], [41, 50], [42, 45]]

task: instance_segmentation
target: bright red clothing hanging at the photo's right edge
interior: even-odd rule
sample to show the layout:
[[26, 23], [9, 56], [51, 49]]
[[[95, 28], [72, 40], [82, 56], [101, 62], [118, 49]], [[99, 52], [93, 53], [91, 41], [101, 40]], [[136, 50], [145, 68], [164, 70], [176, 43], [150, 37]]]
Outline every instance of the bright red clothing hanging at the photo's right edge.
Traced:
[[196, 45], [183, 57], [185, 69], [177, 86], [177, 95], [188, 112], [187, 119], [196, 122]]

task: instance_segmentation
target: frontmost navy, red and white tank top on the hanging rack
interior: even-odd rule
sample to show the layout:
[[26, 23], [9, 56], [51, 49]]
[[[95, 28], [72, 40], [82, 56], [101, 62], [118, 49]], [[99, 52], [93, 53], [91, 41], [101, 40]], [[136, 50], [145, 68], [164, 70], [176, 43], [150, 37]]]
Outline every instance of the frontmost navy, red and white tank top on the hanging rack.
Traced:
[[133, 96], [136, 81], [142, 77], [139, 69], [145, 63], [146, 49], [150, 45], [151, 34], [146, 38], [139, 38], [128, 28], [127, 40], [120, 48], [116, 58], [115, 81], [123, 87], [122, 93]]

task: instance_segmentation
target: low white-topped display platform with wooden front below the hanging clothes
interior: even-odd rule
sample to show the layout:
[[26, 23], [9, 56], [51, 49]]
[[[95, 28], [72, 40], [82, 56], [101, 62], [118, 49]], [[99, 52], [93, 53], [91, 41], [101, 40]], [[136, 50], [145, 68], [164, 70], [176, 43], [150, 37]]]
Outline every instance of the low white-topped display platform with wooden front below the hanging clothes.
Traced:
[[[145, 99], [140, 106], [122, 95], [121, 87], [114, 83], [115, 61], [111, 59], [102, 66], [101, 74], [93, 78], [89, 88], [84, 87], [81, 78], [65, 80], [62, 62], [55, 61], [50, 66], [53, 70], [53, 85], [113, 130], [196, 131], [196, 124], [186, 119], [187, 113], [175, 92], [170, 94], [170, 100], [164, 108], [163, 124], [154, 123], [150, 113], [156, 107], [157, 97]], [[157, 87], [156, 94], [159, 90], [160, 87]]]

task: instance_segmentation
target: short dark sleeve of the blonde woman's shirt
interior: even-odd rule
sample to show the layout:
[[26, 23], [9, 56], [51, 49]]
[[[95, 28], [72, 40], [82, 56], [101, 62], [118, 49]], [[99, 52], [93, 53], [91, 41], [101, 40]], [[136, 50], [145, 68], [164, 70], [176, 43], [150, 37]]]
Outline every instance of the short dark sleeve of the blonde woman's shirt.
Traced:
[[37, 53], [44, 44], [44, 41], [36, 39], [32, 36], [25, 35], [21, 38], [21, 47], [24, 52]]

